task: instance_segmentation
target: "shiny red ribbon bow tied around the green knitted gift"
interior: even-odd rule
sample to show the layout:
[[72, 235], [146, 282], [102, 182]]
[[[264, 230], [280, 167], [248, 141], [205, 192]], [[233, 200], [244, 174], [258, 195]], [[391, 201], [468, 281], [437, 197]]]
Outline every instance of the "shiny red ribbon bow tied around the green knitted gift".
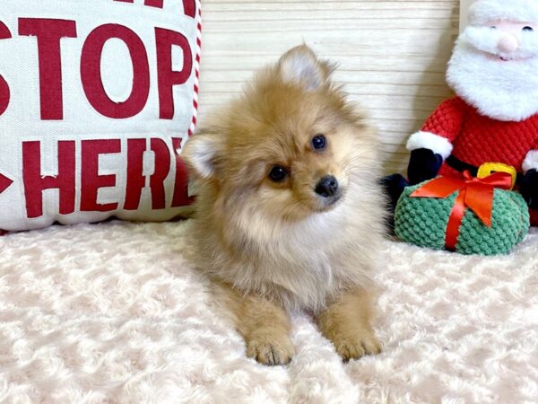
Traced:
[[473, 178], [469, 171], [464, 171], [464, 179], [438, 177], [424, 184], [411, 194], [411, 198], [447, 198], [456, 191], [459, 194], [450, 212], [447, 224], [445, 246], [447, 250], [456, 250], [457, 237], [464, 220], [465, 209], [468, 207], [482, 220], [483, 224], [491, 227], [493, 211], [493, 191], [511, 189], [512, 176], [507, 172], [495, 172], [486, 178]]

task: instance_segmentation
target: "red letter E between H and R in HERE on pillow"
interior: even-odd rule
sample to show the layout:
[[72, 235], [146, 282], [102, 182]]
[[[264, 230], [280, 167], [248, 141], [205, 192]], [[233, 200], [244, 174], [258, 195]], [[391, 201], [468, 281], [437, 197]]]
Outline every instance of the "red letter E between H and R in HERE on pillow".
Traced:
[[121, 152], [119, 139], [82, 140], [81, 210], [86, 212], [108, 212], [117, 209], [117, 203], [99, 204], [100, 188], [116, 186], [116, 175], [99, 175], [100, 154]]

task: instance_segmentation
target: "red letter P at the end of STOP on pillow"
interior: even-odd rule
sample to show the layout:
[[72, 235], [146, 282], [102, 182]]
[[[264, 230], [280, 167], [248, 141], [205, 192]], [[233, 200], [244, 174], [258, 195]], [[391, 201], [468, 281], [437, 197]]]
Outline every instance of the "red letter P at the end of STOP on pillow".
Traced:
[[[173, 87], [187, 82], [193, 68], [193, 56], [188, 40], [176, 31], [155, 28], [157, 41], [157, 72], [159, 83], [159, 101], [161, 119], [174, 118]], [[183, 51], [183, 68], [172, 70], [172, 46], [178, 46]]]

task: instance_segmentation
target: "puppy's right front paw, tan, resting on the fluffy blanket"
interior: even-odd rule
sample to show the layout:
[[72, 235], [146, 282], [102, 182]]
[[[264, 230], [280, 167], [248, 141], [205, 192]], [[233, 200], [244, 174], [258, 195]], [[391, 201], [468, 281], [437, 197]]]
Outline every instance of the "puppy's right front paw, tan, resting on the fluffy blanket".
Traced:
[[353, 333], [336, 333], [333, 344], [344, 361], [381, 353], [381, 344], [372, 330], [357, 329]]

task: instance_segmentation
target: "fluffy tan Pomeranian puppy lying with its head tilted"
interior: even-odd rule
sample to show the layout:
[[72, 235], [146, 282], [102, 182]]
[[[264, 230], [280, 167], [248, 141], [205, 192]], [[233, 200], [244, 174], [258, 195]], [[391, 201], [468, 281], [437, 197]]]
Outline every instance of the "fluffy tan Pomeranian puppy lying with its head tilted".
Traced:
[[377, 136], [332, 71], [292, 48], [182, 153], [198, 192], [195, 266], [262, 364], [291, 361], [292, 311], [312, 313], [345, 360], [381, 350], [370, 326]]

